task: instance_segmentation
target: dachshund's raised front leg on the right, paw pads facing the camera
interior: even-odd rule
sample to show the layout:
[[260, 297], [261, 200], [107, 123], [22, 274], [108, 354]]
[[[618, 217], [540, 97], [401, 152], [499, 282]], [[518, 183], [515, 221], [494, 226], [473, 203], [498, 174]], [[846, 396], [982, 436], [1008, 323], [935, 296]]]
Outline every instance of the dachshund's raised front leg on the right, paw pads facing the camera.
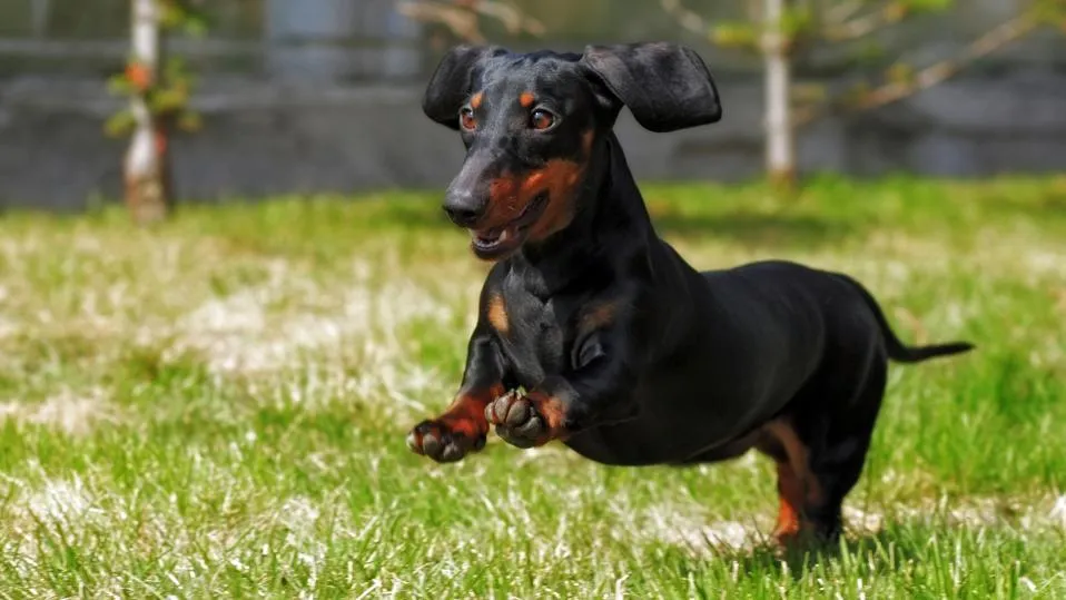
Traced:
[[620, 337], [593, 334], [579, 350], [575, 368], [546, 376], [525, 395], [511, 391], [496, 399], [485, 409], [486, 421], [505, 442], [525, 449], [635, 416], [635, 406], [615, 405], [635, 381]]

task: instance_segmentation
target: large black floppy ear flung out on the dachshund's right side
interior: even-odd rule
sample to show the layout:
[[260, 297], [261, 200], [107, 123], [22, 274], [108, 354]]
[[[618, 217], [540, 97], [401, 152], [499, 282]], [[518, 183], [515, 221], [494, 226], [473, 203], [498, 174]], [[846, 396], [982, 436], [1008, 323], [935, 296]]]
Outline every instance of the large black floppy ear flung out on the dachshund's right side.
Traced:
[[650, 131], [674, 131], [722, 118], [711, 72], [699, 55], [683, 46], [586, 46], [581, 62]]

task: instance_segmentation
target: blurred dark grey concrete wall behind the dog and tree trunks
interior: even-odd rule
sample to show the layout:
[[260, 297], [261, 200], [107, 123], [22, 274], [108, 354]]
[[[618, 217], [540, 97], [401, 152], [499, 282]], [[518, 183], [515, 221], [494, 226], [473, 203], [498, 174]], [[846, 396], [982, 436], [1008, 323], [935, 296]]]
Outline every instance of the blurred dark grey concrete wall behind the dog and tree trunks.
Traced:
[[[718, 125], [651, 134], [618, 126], [639, 178], [738, 180], [762, 160], [758, 79], [723, 79]], [[117, 108], [97, 79], [0, 83], [0, 201], [78, 209], [118, 197], [121, 140], [102, 134]], [[422, 115], [423, 88], [208, 82], [205, 129], [175, 142], [184, 198], [256, 198], [444, 186], [457, 135]], [[800, 136], [807, 171], [937, 176], [1066, 170], [1066, 73], [1032, 68], [960, 78], [884, 109], [819, 121]]]

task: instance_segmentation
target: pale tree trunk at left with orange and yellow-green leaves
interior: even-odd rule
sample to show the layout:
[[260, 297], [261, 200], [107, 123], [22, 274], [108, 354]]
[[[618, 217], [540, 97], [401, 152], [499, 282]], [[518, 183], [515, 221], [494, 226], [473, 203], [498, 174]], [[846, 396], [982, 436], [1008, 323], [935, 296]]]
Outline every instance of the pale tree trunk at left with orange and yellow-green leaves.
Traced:
[[159, 82], [162, 39], [158, 0], [132, 0], [132, 47], [127, 75], [138, 92], [130, 110], [136, 129], [126, 151], [126, 206], [137, 224], [167, 216], [170, 208], [168, 128], [148, 107], [147, 90]]

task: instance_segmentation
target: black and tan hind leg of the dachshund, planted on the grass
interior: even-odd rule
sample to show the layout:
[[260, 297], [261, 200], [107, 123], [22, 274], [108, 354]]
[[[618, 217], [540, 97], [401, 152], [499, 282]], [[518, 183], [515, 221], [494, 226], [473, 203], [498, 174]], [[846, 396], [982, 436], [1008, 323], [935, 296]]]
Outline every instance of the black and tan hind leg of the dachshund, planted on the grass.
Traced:
[[779, 543], [807, 534], [831, 542], [842, 532], [843, 499], [862, 472], [885, 394], [887, 364], [876, 354], [857, 385], [823, 378], [764, 426], [757, 447], [777, 463]]

